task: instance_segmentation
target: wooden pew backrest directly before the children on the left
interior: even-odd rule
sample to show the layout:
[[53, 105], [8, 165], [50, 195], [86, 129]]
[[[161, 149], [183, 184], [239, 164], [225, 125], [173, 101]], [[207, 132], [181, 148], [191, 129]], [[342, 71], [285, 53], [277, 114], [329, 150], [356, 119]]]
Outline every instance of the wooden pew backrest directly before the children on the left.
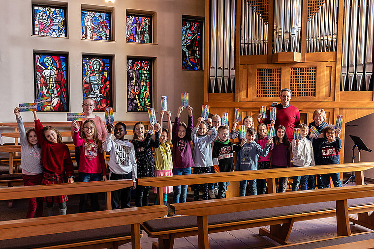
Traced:
[[26, 199], [62, 194], [88, 194], [105, 192], [106, 209], [112, 209], [111, 192], [132, 187], [132, 179], [98, 182], [76, 182], [36, 186], [19, 186], [0, 189], [0, 200]]

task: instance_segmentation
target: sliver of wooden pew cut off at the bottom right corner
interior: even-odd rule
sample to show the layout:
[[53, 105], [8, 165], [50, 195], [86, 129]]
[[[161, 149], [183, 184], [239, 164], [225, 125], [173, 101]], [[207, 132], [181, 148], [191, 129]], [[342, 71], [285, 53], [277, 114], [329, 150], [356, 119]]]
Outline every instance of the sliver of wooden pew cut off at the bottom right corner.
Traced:
[[374, 247], [374, 232], [363, 232], [350, 236], [301, 242], [287, 246], [273, 247], [286, 249], [369, 249]]

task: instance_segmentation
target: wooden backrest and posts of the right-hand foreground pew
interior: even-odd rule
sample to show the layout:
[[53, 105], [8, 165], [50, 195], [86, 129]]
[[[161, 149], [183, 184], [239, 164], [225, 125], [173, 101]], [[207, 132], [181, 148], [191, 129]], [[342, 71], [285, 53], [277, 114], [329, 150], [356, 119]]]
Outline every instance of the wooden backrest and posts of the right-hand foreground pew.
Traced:
[[344, 188], [177, 203], [170, 204], [170, 207], [175, 211], [176, 214], [197, 216], [199, 249], [209, 249], [208, 215], [335, 201], [337, 235], [347, 236], [351, 235], [347, 200], [372, 196], [374, 196], [373, 184], [365, 186], [350, 186]]

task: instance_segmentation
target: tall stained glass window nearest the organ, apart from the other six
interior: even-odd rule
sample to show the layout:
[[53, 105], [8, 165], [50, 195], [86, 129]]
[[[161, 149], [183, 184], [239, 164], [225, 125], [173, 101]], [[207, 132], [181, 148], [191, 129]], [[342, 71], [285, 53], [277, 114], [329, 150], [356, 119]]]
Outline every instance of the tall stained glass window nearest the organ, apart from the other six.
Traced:
[[182, 19], [182, 69], [202, 70], [203, 21]]

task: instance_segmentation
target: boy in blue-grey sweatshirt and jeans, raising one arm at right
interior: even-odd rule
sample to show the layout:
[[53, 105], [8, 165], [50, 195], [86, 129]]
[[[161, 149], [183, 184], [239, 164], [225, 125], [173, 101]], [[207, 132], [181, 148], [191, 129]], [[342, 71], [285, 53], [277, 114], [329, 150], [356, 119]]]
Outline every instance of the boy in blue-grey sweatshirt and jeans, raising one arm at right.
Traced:
[[[257, 170], [258, 156], [266, 157], [269, 153], [270, 144], [272, 138], [268, 138], [265, 149], [261, 148], [261, 145], [256, 143], [256, 129], [248, 128], [246, 133], [247, 143], [242, 147], [242, 150], [238, 152], [238, 158], [236, 161], [236, 171], [242, 170]], [[247, 180], [240, 181], [239, 194], [240, 196], [246, 196]], [[249, 180], [250, 195], [257, 195], [256, 180]]]

